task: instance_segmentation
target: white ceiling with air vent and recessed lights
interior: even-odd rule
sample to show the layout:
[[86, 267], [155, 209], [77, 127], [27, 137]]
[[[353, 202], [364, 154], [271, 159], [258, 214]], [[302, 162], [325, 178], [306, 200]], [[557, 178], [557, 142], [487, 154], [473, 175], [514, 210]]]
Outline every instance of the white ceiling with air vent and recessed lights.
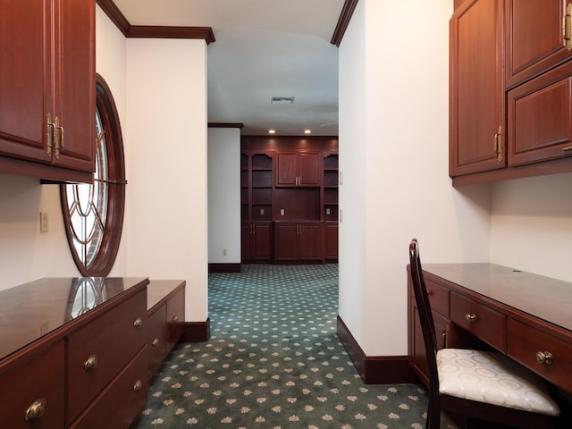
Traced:
[[[242, 135], [338, 135], [338, 48], [344, 0], [114, 0], [131, 25], [211, 27], [208, 122]], [[271, 104], [272, 97], [294, 103]]]

